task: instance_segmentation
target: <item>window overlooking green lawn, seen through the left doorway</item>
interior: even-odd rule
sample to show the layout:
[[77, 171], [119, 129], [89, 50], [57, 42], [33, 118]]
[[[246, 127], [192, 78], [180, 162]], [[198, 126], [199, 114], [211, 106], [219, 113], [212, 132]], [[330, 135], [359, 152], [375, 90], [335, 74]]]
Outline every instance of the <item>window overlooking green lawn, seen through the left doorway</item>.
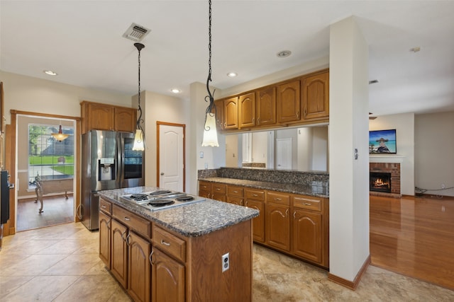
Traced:
[[35, 187], [35, 177], [45, 179], [74, 177], [74, 127], [63, 126], [62, 132], [70, 134], [64, 141], [57, 141], [52, 133], [58, 126], [28, 124], [28, 187]]

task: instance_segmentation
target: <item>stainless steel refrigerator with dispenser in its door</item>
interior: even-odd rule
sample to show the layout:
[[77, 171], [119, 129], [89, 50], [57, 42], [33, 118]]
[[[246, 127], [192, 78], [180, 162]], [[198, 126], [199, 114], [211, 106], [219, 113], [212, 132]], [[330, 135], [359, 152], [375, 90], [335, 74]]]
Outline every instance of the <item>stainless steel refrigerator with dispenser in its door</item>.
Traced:
[[92, 130], [82, 134], [82, 200], [79, 219], [99, 228], [100, 190], [145, 185], [143, 151], [133, 151], [134, 134]]

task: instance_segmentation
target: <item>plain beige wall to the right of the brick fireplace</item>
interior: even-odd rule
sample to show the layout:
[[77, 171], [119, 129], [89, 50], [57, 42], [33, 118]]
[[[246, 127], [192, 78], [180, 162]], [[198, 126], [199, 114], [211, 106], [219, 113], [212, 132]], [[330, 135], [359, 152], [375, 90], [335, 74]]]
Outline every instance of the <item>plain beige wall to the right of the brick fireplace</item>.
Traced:
[[[453, 134], [454, 111], [414, 117], [415, 185], [432, 189], [426, 194], [454, 196]], [[440, 190], [442, 184], [450, 189]]]

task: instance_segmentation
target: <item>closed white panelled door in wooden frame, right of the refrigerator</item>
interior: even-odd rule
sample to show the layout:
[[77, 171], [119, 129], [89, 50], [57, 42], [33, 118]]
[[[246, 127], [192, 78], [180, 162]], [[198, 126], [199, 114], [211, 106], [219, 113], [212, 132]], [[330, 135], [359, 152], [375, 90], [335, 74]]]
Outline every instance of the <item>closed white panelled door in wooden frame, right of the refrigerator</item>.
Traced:
[[160, 124], [159, 187], [182, 192], [184, 175], [183, 127]]

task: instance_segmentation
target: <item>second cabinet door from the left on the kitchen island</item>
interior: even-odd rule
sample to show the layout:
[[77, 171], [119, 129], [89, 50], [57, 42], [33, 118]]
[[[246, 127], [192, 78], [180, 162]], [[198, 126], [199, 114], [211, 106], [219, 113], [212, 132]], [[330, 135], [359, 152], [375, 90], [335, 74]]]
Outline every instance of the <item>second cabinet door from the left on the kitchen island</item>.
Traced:
[[111, 272], [123, 288], [127, 289], [128, 245], [126, 244], [126, 237], [128, 236], [128, 228], [115, 219], [112, 219], [111, 231]]

